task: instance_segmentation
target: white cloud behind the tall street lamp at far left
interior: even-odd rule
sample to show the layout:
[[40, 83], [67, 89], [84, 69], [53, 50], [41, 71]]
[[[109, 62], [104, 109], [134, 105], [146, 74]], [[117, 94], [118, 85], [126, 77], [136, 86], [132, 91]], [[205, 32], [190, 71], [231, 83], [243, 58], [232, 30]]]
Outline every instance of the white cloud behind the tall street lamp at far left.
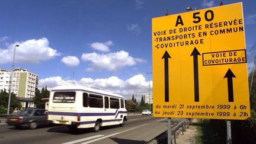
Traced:
[[0, 63], [12, 62], [14, 46], [16, 44], [20, 46], [16, 47], [15, 62], [39, 63], [60, 55], [60, 53], [57, 53], [57, 50], [49, 47], [49, 41], [46, 38], [39, 40], [31, 39], [8, 44], [7, 49], [0, 49], [0, 57], [3, 57]]

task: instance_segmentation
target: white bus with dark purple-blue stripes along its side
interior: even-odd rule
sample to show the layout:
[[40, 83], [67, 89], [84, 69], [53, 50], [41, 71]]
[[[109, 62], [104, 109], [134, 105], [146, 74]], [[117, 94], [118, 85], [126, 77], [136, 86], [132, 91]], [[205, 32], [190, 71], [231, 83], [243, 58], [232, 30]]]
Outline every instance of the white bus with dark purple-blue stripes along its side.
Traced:
[[62, 85], [50, 92], [48, 123], [98, 132], [101, 126], [123, 126], [124, 121], [127, 110], [121, 95], [80, 85]]

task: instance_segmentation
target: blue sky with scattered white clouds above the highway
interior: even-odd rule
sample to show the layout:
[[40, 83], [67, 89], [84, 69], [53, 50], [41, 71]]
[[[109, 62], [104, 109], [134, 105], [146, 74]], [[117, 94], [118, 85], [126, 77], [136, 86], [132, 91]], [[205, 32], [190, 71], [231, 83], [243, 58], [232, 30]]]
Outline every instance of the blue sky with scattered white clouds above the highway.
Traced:
[[[243, 2], [248, 69], [256, 55], [255, 0]], [[39, 87], [75, 81], [104, 87], [131, 98], [149, 93], [152, 75], [151, 20], [203, 9], [220, 1], [0, 1], [0, 68], [39, 75]], [[251, 48], [254, 48], [251, 50]], [[255, 49], [255, 50], [254, 50]], [[73, 75], [75, 73], [75, 75]], [[152, 94], [152, 92], [151, 92]]]

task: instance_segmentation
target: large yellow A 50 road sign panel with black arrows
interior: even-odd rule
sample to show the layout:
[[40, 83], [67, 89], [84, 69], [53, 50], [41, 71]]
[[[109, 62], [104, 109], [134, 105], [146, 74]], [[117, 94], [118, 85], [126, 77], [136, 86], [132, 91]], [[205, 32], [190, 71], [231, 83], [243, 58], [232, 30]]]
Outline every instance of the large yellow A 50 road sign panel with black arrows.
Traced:
[[153, 116], [250, 117], [242, 3], [152, 19]]

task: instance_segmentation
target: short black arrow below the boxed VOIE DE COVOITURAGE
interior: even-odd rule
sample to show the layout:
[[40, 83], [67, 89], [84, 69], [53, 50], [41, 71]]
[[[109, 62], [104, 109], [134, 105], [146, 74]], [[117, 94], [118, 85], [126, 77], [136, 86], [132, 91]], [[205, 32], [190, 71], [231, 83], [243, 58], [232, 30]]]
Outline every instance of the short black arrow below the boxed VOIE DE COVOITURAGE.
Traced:
[[224, 78], [228, 78], [228, 96], [229, 102], [233, 102], [233, 78], [236, 78], [231, 69], [228, 69]]

